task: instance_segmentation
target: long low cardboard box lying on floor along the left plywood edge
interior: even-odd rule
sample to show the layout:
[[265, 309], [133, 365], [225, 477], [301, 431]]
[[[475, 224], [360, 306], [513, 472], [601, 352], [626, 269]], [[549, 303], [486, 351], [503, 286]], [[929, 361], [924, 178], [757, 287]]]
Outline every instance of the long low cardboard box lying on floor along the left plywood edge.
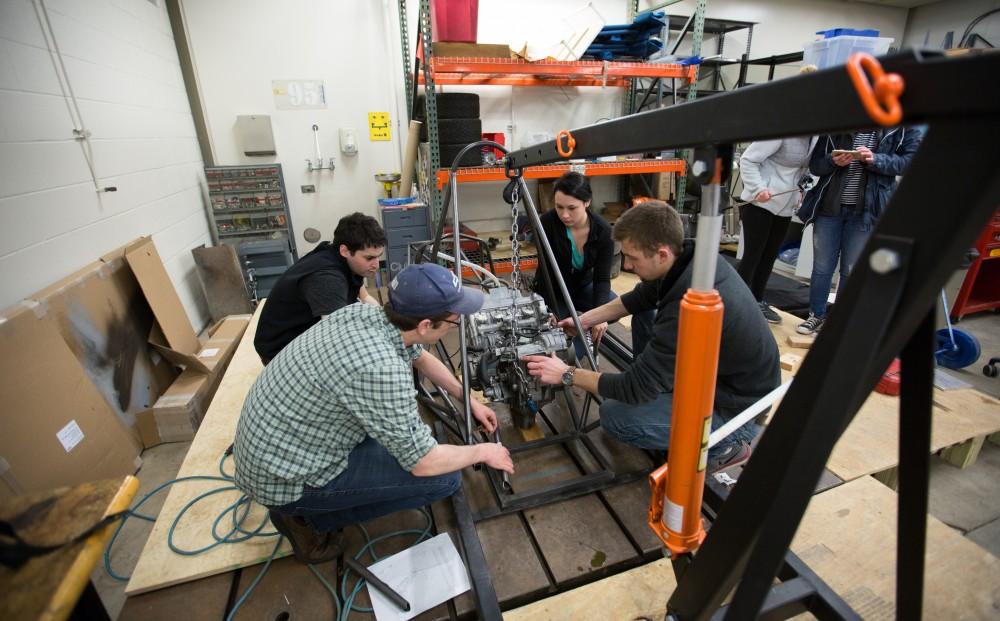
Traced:
[[250, 317], [223, 319], [194, 356], [154, 343], [165, 356], [181, 361], [185, 369], [152, 408], [139, 414], [137, 426], [145, 448], [194, 438]]

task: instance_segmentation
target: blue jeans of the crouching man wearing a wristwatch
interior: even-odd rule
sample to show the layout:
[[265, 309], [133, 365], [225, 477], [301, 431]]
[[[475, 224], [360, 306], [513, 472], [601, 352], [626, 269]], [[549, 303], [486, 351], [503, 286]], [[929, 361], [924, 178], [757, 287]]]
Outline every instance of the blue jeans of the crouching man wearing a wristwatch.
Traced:
[[[665, 451], [670, 446], [670, 419], [674, 407], [674, 394], [660, 393], [652, 401], [632, 405], [614, 399], [601, 403], [601, 427], [612, 438], [625, 444]], [[712, 430], [726, 424], [738, 412], [725, 415], [715, 412], [712, 416]], [[750, 442], [761, 432], [754, 421], [743, 425], [709, 449], [709, 456], [724, 452], [741, 442]]]

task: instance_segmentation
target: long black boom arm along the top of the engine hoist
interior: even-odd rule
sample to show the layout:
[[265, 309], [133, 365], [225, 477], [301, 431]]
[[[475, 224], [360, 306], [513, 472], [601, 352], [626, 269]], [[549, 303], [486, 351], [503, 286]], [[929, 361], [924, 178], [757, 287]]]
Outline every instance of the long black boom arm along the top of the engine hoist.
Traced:
[[[996, 114], [1000, 75], [996, 55], [944, 57], [904, 52], [880, 59], [906, 83], [904, 123]], [[650, 110], [571, 131], [573, 158], [645, 153], [707, 144], [749, 142], [872, 127], [844, 67], [755, 84], [714, 97]], [[564, 160], [556, 141], [513, 151], [510, 168]]]

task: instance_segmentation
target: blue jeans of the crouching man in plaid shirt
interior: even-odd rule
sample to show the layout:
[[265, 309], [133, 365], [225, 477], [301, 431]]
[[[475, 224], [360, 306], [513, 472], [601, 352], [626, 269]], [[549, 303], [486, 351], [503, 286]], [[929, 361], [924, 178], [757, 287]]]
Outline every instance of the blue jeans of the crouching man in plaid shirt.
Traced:
[[447, 498], [462, 484], [460, 472], [418, 477], [403, 470], [396, 458], [371, 438], [354, 447], [347, 470], [323, 487], [306, 486], [302, 498], [280, 507], [280, 513], [298, 515], [319, 532], [423, 507]]

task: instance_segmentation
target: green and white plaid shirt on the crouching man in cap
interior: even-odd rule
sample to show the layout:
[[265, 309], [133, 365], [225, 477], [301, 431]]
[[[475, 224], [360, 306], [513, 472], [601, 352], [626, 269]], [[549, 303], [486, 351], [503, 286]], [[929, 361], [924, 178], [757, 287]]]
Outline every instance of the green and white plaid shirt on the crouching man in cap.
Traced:
[[370, 304], [345, 306], [304, 332], [243, 403], [237, 486], [260, 504], [288, 504], [342, 473], [366, 436], [411, 470], [437, 445], [417, 412], [411, 364], [422, 353]]

